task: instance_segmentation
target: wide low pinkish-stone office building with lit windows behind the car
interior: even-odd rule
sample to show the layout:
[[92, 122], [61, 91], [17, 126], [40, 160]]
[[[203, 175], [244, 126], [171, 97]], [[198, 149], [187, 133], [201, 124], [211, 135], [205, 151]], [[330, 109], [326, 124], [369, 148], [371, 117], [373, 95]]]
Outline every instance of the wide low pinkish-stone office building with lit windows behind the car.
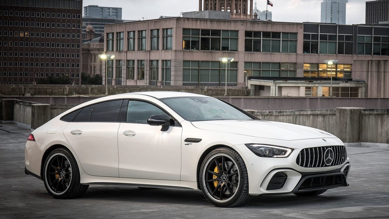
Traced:
[[[115, 55], [109, 85], [208, 87], [227, 78], [259, 96], [329, 96], [333, 87], [338, 97], [389, 97], [388, 39], [383, 26], [178, 17], [106, 25], [104, 49]], [[221, 57], [234, 58], [227, 72]]]

